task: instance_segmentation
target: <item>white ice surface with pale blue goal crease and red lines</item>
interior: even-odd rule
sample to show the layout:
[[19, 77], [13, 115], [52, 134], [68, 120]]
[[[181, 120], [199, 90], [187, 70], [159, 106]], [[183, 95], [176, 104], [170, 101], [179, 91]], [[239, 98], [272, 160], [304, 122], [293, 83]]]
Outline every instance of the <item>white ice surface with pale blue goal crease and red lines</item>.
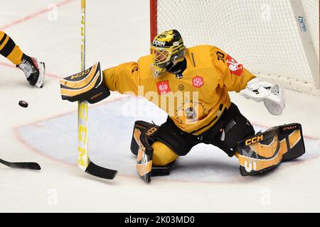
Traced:
[[[149, 0], [87, 1], [86, 26], [87, 66], [100, 61], [102, 68], [112, 67], [149, 53]], [[319, 96], [286, 90], [284, 113], [272, 116], [263, 104], [231, 94], [256, 131], [302, 123], [306, 154], [297, 160], [241, 177], [238, 159], [197, 145], [170, 176], [146, 184], [129, 150], [132, 126], [138, 119], [161, 124], [166, 115], [142, 99], [114, 93], [89, 111], [90, 157], [119, 171], [112, 181], [97, 179], [76, 165], [77, 104], [60, 99], [59, 79], [80, 71], [80, 0], [1, 1], [0, 30], [46, 62], [47, 72], [43, 89], [30, 87], [21, 70], [0, 56], [0, 158], [42, 167], [0, 165], [0, 212], [320, 211]]]

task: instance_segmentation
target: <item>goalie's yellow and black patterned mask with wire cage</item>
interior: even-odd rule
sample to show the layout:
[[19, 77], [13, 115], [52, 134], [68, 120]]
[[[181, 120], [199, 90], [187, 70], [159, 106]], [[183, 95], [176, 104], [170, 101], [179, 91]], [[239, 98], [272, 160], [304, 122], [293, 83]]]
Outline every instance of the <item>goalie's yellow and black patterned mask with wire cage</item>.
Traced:
[[186, 46], [183, 45], [181, 35], [176, 30], [169, 30], [156, 35], [150, 46], [154, 63], [151, 65], [154, 76], [160, 77], [178, 62], [183, 61], [186, 55]]

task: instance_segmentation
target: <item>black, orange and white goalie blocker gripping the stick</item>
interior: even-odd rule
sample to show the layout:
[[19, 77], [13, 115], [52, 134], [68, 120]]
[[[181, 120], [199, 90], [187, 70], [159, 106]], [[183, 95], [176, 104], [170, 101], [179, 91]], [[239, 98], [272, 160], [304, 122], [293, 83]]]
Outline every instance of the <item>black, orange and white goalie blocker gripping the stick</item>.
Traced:
[[89, 69], [60, 79], [60, 92], [63, 100], [87, 100], [95, 104], [110, 96], [110, 91], [103, 84], [100, 62]]

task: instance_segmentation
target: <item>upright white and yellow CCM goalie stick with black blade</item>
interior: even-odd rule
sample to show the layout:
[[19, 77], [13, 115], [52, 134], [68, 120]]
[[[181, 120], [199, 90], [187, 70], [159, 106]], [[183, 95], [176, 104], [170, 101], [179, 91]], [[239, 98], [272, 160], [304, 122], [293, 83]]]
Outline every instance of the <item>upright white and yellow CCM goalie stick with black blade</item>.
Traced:
[[[81, 0], [81, 71], [85, 71], [85, 0]], [[78, 166], [95, 177], [114, 179], [117, 170], [110, 170], [91, 162], [88, 153], [88, 102], [78, 101]]]

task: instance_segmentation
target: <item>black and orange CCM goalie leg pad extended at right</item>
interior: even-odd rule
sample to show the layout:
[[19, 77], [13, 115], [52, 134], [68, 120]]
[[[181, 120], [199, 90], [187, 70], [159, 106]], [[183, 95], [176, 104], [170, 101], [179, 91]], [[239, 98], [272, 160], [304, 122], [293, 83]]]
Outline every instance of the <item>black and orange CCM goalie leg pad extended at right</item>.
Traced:
[[277, 126], [238, 143], [242, 176], [255, 175], [305, 153], [302, 126], [299, 123]]

